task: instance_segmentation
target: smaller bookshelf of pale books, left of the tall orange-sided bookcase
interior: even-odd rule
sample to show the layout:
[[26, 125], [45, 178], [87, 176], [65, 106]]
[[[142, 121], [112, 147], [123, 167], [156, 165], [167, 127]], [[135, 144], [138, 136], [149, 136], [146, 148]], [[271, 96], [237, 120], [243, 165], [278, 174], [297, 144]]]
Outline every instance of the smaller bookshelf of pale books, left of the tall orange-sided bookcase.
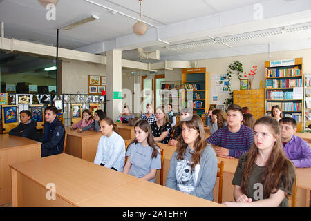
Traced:
[[[161, 82], [161, 106], [172, 104], [178, 105], [179, 89], [182, 87], [182, 81], [163, 81]], [[167, 90], [165, 90], [167, 89]], [[175, 90], [172, 90], [175, 89]]]

